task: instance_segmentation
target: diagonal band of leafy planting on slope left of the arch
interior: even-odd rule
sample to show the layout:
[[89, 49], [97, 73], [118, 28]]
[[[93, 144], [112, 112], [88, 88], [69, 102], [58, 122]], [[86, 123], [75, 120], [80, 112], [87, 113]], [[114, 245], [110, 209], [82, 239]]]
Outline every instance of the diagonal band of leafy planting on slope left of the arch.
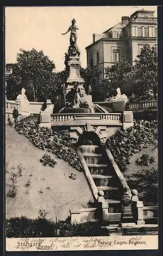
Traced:
[[82, 170], [75, 148], [67, 135], [53, 132], [48, 127], [39, 127], [39, 124], [33, 121], [15, 123], [14, 128], [19, 134], [25, 135], [34, 146], [41, 150], [46, 149], [77, 170]]

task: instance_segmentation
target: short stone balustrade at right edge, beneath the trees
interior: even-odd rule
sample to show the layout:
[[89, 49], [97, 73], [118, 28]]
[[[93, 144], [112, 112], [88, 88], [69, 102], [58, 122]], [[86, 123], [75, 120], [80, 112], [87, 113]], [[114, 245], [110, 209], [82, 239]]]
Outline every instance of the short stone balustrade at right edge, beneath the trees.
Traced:
[[157, 100], [146, 100], [127, 104], [127, 110], [157, 109]]

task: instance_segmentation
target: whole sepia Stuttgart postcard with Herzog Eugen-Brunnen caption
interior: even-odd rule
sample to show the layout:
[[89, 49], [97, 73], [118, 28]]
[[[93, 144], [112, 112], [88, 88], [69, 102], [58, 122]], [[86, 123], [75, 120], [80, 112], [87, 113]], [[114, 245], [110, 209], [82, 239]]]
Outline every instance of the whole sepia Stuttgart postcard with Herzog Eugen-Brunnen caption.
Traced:
[[157, 6], [4, 19], [6, 251], [158, 249]]

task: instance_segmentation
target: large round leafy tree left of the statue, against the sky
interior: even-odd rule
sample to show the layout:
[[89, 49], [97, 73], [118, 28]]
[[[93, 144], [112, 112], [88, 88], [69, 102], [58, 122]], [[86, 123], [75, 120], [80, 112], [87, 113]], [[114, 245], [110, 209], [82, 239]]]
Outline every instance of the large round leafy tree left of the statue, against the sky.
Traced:
[[51, 98], [56, 88], [54, 86], [53, 61], [45, 56], [43, 51], [20, 49], [13, 73], [7, 80], [7, 98], [15, 99], [22, 87], [31, 101], [42, 101]]

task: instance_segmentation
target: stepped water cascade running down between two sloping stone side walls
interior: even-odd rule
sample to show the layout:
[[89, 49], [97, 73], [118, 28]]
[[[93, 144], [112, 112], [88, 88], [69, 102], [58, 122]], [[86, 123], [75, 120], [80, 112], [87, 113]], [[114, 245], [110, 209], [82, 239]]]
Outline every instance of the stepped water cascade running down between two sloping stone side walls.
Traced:
[[[104, 193], [105, 202], [109, 206], [109, 223], [119, 223], [122, 215], [123, 188], [106, 153], [101, 146], [96, 145], [81, 145], [79, 149], [98, 191], [102, 190]], [[96, 202], [94, 202], [94, 206], [96, 206]]]

